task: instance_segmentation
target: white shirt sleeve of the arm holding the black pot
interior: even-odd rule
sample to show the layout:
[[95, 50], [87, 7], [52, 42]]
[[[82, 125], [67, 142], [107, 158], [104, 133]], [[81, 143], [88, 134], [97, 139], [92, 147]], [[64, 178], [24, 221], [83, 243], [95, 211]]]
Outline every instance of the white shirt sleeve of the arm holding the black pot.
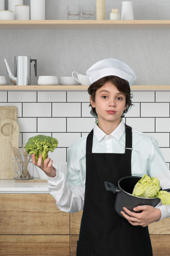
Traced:
[[[157, 177], [160, 181], [162, 189], [169, 188], [170, 184], [170, 171], [165, 162], [164, 156], [159, 149], [158, 142], [152, 140], [151, 159], [149, 161], [149, 175]], [[159, 204], [156, 208], [161, 210], [161, 219], [170, 217], [170, 204], [169, 206]]]

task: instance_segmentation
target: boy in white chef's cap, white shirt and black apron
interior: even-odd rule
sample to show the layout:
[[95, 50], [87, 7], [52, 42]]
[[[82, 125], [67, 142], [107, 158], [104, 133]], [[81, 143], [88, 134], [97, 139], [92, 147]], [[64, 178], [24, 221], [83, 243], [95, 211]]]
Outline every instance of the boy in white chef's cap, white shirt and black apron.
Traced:
[[135, 73], [116, 59], [100, 60], [87, 71], [91, 85], [91, 114], [97, 117], [88, 136], [77, 140], [69, 150], [67, 180], [53, 161], [42, 157], [32, 162], [48, 176], [51, 195], [64, 212], [83, 209], [77, 256], [151, 256], [148, 225], [170, 216], [170, 206], [125, 207], [115, 212], [115, 194], [104, 181], [117, 184], [125, 176], [148, 174], [168, 188], [170, 172], [155, 139], [123, 123], [132, 105], [130, 85]]

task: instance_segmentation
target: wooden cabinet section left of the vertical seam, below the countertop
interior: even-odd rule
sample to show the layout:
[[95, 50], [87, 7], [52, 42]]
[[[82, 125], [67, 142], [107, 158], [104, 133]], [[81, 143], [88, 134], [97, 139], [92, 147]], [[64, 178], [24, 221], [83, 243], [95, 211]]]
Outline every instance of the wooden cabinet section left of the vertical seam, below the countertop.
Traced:
[[0, 255], [70, 255], [70, 215], [50, 194], [0, 194], [0, 206]]

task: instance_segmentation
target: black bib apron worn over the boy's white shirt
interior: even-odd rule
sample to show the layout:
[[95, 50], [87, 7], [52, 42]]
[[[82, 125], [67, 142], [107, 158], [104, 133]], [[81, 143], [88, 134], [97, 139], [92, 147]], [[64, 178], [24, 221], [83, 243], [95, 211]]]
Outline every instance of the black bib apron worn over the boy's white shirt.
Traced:
[[[126, 126], [126, 125], [125, 125]], [[93, 130], [86, 142], [86, 188], [77, 256], [152, 256], [148, 227], [132, 226], [114, 207], [116, 195], [104, 181], [118, 184], [131, 176], [132, 128], [126, 126], [125, 153], [92, 153]]]

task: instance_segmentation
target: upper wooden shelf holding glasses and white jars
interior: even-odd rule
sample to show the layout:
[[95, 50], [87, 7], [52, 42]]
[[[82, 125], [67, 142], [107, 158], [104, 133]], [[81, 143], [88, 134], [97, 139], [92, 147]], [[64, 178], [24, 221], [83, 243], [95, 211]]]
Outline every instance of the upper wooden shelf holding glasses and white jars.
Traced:
[[7, 28], [170, 28], [170, 20], [1, 20]]

